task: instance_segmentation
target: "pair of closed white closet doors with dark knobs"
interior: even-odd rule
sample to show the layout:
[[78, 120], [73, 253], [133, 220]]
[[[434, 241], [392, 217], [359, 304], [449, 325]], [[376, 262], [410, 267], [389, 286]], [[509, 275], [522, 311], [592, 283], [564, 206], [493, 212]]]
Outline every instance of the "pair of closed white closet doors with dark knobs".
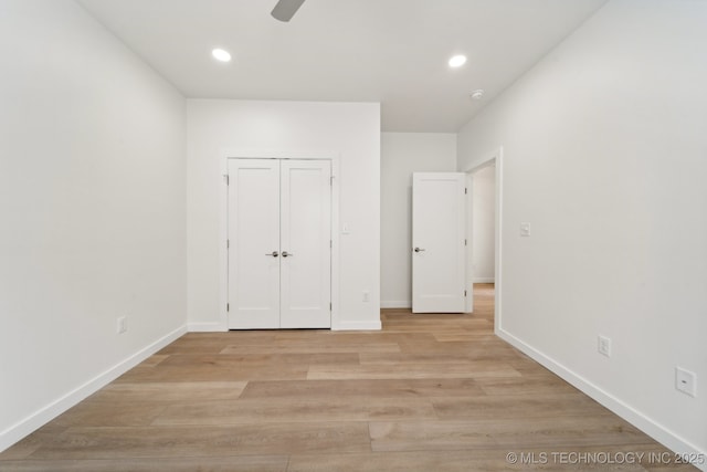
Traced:
[[229, 328], [331, 327], [331, 162], [229, 159]]

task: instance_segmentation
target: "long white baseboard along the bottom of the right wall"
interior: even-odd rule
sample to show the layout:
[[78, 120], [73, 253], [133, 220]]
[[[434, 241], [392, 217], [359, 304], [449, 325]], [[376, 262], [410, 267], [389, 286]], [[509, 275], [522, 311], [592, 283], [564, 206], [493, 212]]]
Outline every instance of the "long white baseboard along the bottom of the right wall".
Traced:
[[[513, 345], [518, 350], [521, 350], [524, 354], [541, 364], [544, 367], [548, 368], [562, 379], [567, 380], [569, 384], [573, 385], [582, 392], [600, 402], [602, 406], [606, 407], [624, 420], [629, 421], [666, 448], [671, 449], [672, 451], [682, 454], [688, 454], [690, 457], [697, 455], [707, 458], [707, 451], [701, 451], [697, 445], [680, 438], [669, 429], [648, 418], [641, 411], [635, 410], [633, 407], [620, 400], [619, 398], [602, 390], [591, 381], [568, 369], [560, 363], [546, 356], [536, 348], [529, 346], [510, 333], [504, 331], [503, 328], [499, 328], [496, 329], [496, 335], [508, 344]], [[707, 471], [707, 463], [696, 463], [695, 466], [697, 466], [701, 471]]]

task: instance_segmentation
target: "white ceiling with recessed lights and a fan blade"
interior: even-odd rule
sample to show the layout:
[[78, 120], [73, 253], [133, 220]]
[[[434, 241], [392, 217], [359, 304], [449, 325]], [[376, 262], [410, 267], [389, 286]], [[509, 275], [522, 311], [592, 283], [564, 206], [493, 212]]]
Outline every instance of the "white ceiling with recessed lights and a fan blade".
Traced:
[[454, 133], [606, 0], [306, 0], [289, 23], [276, 0], [78, 2], [187, 97], [381, 102], [386, 132]]

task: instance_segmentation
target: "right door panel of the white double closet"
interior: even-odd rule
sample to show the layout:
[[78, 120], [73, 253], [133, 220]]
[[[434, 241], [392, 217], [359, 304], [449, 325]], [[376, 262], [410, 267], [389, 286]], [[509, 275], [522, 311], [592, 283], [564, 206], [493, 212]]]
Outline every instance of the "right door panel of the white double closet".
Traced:
[[331, 162], [281, 162], [281, 327], [331, 327]]

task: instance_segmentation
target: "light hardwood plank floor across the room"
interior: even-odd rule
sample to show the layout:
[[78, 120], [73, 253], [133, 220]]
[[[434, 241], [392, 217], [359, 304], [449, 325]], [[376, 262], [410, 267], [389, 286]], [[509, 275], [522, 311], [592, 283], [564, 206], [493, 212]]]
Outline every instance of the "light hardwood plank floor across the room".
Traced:
[[[475, 293], [473, 315], [386, 310], [381, 332], [187, 334], [0, 470], [695, 470], [495, 337], [493, 285]], [[622, 453], [645, 455], [605, 463]]]

